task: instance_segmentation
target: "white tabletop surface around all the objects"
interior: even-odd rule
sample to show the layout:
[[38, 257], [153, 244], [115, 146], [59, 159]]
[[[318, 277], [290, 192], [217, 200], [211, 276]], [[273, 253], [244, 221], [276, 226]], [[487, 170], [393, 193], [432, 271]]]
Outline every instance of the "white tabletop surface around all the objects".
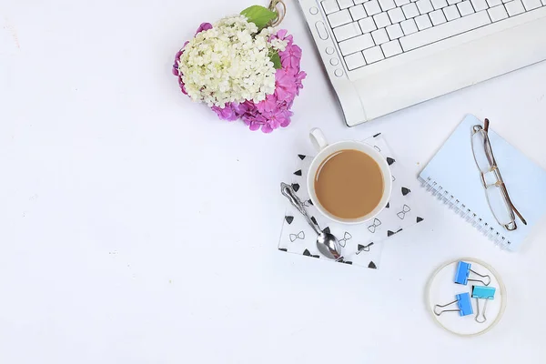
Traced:
[[[313, 126], [382, 132], [417, 176], [473, 113], [546, 167], [546, 63], [349, 129], [288, 1], [308, 79], [292, 125], [253, 133], [171, 75], [201, 21], [251, 4], [0, 1], [0, 362], [543, 363], [544, 223], [502, 252], [416, 191], [427, 219], [389, 239], [377, 271], [277, 244], [278, 184]], [[508, 290], [500, 324], [473, 339], [424, 305], [432, 270], [465, 256]]]

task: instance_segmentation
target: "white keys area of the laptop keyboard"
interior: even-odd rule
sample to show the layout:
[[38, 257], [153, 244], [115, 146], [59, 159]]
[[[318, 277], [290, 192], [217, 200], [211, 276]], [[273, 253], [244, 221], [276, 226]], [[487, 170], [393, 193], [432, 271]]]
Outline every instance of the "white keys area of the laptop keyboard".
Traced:
[[[352, 71], [544, 7], [546, 0], [324, 0], [320, 5]], [[317, 30], [319, 36], [327, 31]]]

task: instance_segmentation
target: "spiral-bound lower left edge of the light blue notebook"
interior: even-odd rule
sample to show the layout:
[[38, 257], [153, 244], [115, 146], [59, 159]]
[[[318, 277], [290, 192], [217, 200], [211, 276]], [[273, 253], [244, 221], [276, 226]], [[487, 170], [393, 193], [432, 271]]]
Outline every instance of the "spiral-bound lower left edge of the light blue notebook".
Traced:
[[[430, 192], [433, 197], [436, 197], [444, 205], [450, 208], [455, 214], [462, 217], [466, 222], [470, 223], [472, 227], [478, 229], [478, 231], [493, 241], [496, 245], [501, 248], [510, 248], [511, 241], [501, 234], [494, 225], [491, 225], [490, 222], [484, 221], [476, 213], [462, 203], [457, 197], [454, 197], [450, 194], [450, 191], [444, 189], [431, 177], [426, 179], [419, 178], [421, 187], [424, 187], [427, 192]], [[496, 224], [496, 222], [494, 223]], [[498, 224], [497, 224], [498, 225]]]

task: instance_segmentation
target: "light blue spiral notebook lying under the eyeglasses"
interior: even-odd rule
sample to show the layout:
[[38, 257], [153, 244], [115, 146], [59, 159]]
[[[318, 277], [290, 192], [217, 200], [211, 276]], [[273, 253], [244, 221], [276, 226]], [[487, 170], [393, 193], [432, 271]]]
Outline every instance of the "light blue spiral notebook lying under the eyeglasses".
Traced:
[[525, 157], [506, 140], [489, 130], [497, 165], [515, 207], [525, 217], [523, 225], [508, 231], [493, 216], [471, 147], [471, 129], [483, 125], [476, 116], [466, 116], [448, 141], [420, 173], [420, 182], [481, 233], [501, 248], [516, 250], [546, 213], [546, 171]]

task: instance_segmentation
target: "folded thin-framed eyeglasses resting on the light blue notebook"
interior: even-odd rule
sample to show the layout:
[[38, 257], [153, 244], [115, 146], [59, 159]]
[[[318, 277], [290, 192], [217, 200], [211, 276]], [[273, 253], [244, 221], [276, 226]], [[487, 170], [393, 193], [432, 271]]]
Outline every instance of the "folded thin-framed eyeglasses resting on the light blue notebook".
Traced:
[[[512, 204], [506, 185], [504, 185], [504, 181], [502, 180], [501, 171], [497, 166], [493, 150], [491, 149], [488, 136], [489, 125], [489, 119], [485, 119], [483, 127], [480, 125], [472, 126], [472, 152], [474, 153], [476, 165], [480, 169], [481, 182], [485, 188], [491, 212], [501, 226], [509, 231], [513, 231], [518, 228], [514, 213], [520, 217], [523, 224], [527, 225], [527, 221], [525, 221], [520, 211]], [[488, 183], [488, 180], [490, 180], [488, 176], [490, 174], [495, 178], [494, 183]]]

